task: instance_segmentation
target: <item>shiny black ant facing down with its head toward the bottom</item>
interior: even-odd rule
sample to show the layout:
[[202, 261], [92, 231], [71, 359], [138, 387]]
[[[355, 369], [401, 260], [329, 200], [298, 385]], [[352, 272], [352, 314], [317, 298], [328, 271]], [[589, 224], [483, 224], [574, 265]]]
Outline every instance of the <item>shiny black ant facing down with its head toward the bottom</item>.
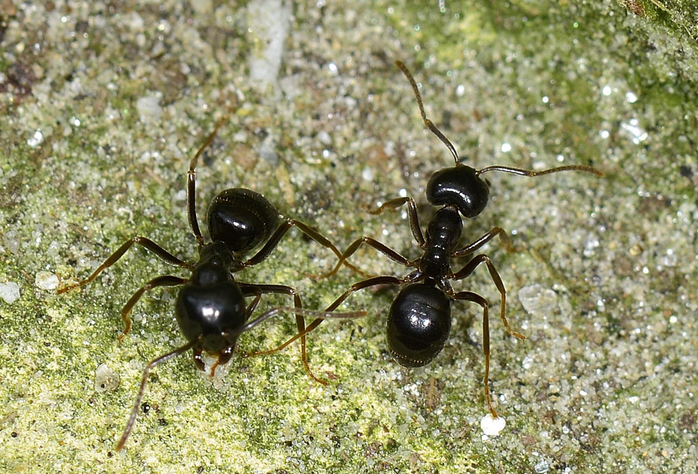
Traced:
[[[188, 342], [184, 346], [151, 360], [143, 370], [138, 395], [124, 429], [124, 434], [121, 435], [117, 443], [117, 451], [124, 447], [124, 443], [126, 443], [135, 423], [148, 373], [158, 364], [191, 349], [195, 365], [198, 369], [204, 370], [205, 364], [202, 360], [202, 352], [206, 352], [216, 357], [216, 362], [211, 366], [210, 373], [212, 377], [218, 365], [225, 364], [230, 360], [235, 350], [237, 338], [241, 334], [248, 332], [253, 327], [282, 311], [296, 314], [298, 332], [303, 340], [305, 339], [303, 316], [322, 318], [359, 318], [365, 316], [365, 313], [360, 311], [331, 313], [329, 311], [303, 309], [301, 298], [297, 290], [292, 286], [235, 281], [233, 276], [235, 272], [257, 265], [265, 260], [279, 244], [285, 233], [292, 227], [299, 228], [305, 235], [318, 242], [318, 244], [331, 249], [338, 258], [341, 258], [341, 253], [334, 244], [308, 225], [293, 219], [285, 219], [280, 222], [279, 212], [272, 203], [261, 194], [255, 193], [255, 191], [245, 188], [232, 188], [216, 195], [207, 212], [211, 242], [205, 243], [196, 217], [195, 168], [199, 156], [211, 145], [218, 129], [221, 128], [227, 119], [228, 114], [218, 121], [214, 131], [191, 158], [187, 172], [188, 221], [191, 232], [199, 244], [198, 261], [190, 263], [179, 260], [179, 258], [150, 239], [140, 236], [133, 237], [112, 253], [87, 279], [58, 290], [59, 293], [64, 293], [73, 288], [87, 285], [104, 269], [114, 265], [133, 244], [143, 246], [174, 267], [182, 267], [191, 271], [189, 278], [163, 275], [148, 281], [133, 294], [131, 299], [128, 299], [124, 308], [121, 309], [121, 319], [124, 320], [125, 327], [124, 331], [119, 335], [119, 341], [131, 330], [129, 314], [144, 292], [158, 286], [182, 286], [177, 294], [174, 314], [177, 318], [179, 329]], [[248, 260], [242, 260], [242, 254], [255, 249], [262, 242], [266, 243], [260, 251], [255, 253], [253, 257], [248, 258]], [[270, 309], [262, 313], [261, 316], [249, 320], [262, 295], [268, 293], [291, 295], [294, 307]], [[246, 304], [246, 297], [254, 297], [254, 299], [250, 304]], [[304, 346], [304, 342], [302, 344]], [[318, 382], [326, 384], [325, 380], [313, 375], [305, 357], [305, 350], [303, 354], [303, 364], [309, 375]]]

